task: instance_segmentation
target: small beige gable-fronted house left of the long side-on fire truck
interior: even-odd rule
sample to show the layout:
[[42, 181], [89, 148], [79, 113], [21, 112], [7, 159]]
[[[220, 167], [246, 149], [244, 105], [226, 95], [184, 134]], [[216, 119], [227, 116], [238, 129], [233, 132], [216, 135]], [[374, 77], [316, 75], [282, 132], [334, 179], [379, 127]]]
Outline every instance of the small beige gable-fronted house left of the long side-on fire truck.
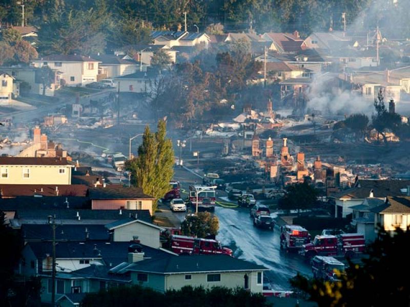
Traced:
[[106, 225], [114, 242], [130, 242], [135, 236], [141, 244], [160, 248], [159, 233], [165, 229], [141, 220], [127, 219]]

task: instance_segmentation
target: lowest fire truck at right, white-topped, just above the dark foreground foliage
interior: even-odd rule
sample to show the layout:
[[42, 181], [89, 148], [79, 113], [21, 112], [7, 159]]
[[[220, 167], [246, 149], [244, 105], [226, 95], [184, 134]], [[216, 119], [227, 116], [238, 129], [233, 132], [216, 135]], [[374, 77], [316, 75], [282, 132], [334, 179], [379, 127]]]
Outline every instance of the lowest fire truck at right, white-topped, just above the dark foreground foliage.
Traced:
[[313, 277], [329, 281], [340, 280], [335, 270], [344, 274], [344, 264], [339, 260], [329, 256], [315, 256], [311, 260]]

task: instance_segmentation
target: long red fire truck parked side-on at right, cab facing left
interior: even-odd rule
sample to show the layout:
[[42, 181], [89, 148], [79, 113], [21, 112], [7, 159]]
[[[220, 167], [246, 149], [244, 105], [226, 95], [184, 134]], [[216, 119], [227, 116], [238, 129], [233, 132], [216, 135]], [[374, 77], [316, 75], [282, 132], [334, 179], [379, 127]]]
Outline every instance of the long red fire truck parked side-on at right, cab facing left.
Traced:
[[307, 258], [316, 255], [352, 258], [355, 254], [364, 252], [364, 243], [364, 235], [361, 233], [317, 235], [313, 243], [303, 246], [300, 254]]

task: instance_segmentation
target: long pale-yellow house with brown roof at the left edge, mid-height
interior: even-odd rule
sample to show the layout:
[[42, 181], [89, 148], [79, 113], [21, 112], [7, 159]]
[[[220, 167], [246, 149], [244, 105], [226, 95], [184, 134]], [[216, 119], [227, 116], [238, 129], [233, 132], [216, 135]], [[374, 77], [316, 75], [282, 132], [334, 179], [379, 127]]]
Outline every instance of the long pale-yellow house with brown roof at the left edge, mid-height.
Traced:
[[0, 157], [0, 184], [71, 184], [67, 158]]

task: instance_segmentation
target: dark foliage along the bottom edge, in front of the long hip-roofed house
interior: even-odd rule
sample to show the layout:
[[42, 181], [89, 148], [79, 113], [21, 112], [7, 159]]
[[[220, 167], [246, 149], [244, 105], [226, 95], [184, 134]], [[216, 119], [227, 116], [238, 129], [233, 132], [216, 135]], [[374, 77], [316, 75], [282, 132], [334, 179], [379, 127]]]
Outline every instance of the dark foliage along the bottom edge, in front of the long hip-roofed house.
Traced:
[[261, 294], [244, 289], [214, 287], [183, 287], [166, 293], [140, 286], [110, 288], [107, 291], [87, 294], [83, 307], [134, 307], [134, 306], [186, 306], [186, 307], [251, 307], [272, 306]]

